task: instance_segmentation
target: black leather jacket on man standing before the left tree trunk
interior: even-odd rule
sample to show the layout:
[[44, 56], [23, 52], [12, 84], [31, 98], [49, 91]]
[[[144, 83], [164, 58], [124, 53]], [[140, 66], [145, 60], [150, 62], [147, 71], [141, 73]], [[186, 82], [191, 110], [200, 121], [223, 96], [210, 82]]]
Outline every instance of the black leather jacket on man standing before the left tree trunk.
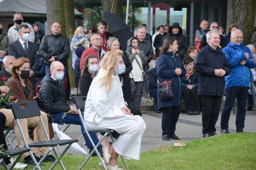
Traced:
[[67, 59], [69, 58], [70, 48], [69, 39], [61, 34], [45, 35], [42, 39], [39, 55], [44, 58], [46, 66], [50, 66], [51, 62], [48, 60], [55, 57], [55, 61], [60, 61], [66, 67]]

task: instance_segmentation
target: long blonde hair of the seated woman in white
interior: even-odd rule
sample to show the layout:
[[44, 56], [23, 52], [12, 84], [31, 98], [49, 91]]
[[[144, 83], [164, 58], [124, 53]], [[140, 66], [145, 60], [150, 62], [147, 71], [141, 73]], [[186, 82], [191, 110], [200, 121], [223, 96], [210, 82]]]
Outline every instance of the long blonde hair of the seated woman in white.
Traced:
[[[122, 50], [109, 51], [107, 52], [102, 60], [100, 61], [99, 70], [101, 72], [100, 79], [100, 87], [103, 85], [109, 85], [108, 92], [112, 89], [112, 76], [111, 69], [114, 67], [114, 64], [117, 62], [117, 55], [123, 55]], [[99, 75], [99, 74], [98, 74]]]

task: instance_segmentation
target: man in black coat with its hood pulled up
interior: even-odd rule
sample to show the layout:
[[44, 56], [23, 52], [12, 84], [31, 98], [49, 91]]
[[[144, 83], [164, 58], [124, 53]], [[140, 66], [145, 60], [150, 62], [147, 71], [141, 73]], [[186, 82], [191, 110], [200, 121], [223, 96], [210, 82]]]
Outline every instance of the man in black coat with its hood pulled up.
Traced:
[[177, 38], [179, 47], [176, 54], [180, 56], [181, 61], [183, 61], [184, 54], [187, 52], [187, 48], [188, 48], [186, 35], [183, 35], [182, 33], [183, 31], [182, 31], [182, 28], [180, 27], [180, 24], [178, 22], [174, 22], [169, 29], [169, 35], [165, 36], [165, 39], [167, 37]]

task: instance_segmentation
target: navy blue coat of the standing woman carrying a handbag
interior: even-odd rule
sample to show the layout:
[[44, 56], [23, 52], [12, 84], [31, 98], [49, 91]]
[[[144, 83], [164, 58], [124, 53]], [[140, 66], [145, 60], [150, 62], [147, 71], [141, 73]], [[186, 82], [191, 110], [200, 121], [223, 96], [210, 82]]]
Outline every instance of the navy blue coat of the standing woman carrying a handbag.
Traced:
[[[176, 75], [175, 69], [181, 68], [182, 74]], [[185, 76], [186, 70], [182, 64], [181, 58], [178, 55], [174, 55], [173, 52], [166, 52], [159, 56], [156, 64], [157, 74], [159, 76], [159, 82], [172, 80], [172, 90], [174, 98], [170, 101], [162, 102], [158, 96], [158, 109], [169, 106], [181, 106], [182, 104], [182, 81]]]

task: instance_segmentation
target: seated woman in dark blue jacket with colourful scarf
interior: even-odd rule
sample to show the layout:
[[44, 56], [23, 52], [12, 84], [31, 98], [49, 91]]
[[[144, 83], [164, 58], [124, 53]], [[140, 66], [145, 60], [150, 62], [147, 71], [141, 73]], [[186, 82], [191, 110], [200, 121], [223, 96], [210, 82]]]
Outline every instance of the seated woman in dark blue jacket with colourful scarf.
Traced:
[[186, 74], [182, 83], [182, 96], [184, 97], [185, 109], [187, 110], [188, 115], [200, 115], [198, 98], [199, 76], [194, 68], [194, 59], [187, 56], [184, 58], [183, 63], [186, 69]]

